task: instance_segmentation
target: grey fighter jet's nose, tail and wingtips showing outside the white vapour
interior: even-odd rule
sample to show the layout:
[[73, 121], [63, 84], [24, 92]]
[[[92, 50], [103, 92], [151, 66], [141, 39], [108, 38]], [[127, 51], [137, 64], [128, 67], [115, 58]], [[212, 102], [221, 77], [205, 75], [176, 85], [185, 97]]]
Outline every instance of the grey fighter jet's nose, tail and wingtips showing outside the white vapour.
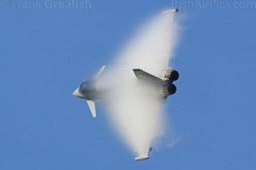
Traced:
[[[170, 14], [178, 12], [178, 9], [170, 9], [163, 11], [162, 14]], [[105, 65], [98, 71], [93, 79], [83, 81], [81, 85], [74, 91], [73, 95], [82, 99], [86, 99], [86, 103], [89, 106], [90, 112], [93, 117], [96, 117], [95, 101], [100, 101], [102, 99], [102, 94], [105, 93], [106, 89], [98, 89], [97, 81], [98, 78], [103, 73]], [[134, 72], [134, 77], [137, 78], [139, 82], [145, 83], [146, 85], [152, 85], [157, 92], [162, 101], [166, 101], [167, 97], [176, 93], [177, 88], [174, 85], [174, 81], [178, 80], [178, 71], [167, 68], [160, 75], [153, 75], [150, 71], [143, 70], [142, 68], [134, 68], [130, 71]], [[159, 72], [160, 73], [160, 72]], [[151, 152], [152, 148], [148, 144], [148, 152]], [[147, 152], [143, 155], [135, 157], [135, 160], [147, 160], [150, 156], [147, 156]]]

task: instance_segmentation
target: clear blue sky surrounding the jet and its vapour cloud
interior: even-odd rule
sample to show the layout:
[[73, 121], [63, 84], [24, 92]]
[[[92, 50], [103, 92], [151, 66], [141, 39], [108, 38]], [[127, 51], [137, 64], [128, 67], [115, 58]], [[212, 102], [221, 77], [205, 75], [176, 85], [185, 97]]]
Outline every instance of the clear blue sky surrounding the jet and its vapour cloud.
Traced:
[[180, 10], [186, 20], [173, 63], [178, 93], [166, 107], [181, 139], [136, 162], [104, 111], [98, 108], [93, 120], [71, 93], [110, 63], [143, 18], [170, 1], [90, 0], [86, 11], [6, 3], [0, 8], [0, 169], [256, 168], [256, 9]]

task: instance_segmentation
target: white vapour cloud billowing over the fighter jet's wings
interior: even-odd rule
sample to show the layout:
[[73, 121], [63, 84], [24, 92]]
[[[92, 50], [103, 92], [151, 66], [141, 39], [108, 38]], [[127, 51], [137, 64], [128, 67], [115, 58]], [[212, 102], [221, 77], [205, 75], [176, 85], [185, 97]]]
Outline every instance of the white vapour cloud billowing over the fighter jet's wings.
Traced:
[[152, 18], [125, 46], [106, 73], [105, 85], [110, 83], [114, 87], [104, 100], [111, 124], [139, 156], [146, 156], [151, 141], [159, 136], [162, 108], [158, 93], [150, 86], [138, 84], [133, 69], [160, 76], [168, 68], [176, 30], [174, 14]]

